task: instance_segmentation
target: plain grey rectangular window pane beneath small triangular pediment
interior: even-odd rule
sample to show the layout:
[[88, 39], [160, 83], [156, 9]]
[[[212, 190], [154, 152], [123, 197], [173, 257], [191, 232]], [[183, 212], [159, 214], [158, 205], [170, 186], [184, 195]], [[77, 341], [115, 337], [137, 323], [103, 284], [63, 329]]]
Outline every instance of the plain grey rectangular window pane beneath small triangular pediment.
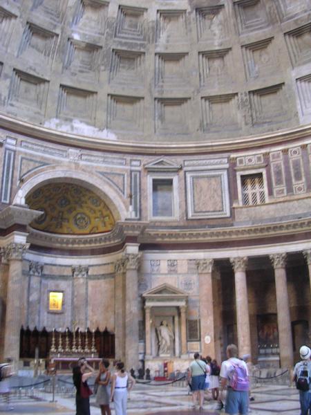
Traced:
[[153, 178], [152, 216], [168, 217], [173, 215], [173, 179]]

